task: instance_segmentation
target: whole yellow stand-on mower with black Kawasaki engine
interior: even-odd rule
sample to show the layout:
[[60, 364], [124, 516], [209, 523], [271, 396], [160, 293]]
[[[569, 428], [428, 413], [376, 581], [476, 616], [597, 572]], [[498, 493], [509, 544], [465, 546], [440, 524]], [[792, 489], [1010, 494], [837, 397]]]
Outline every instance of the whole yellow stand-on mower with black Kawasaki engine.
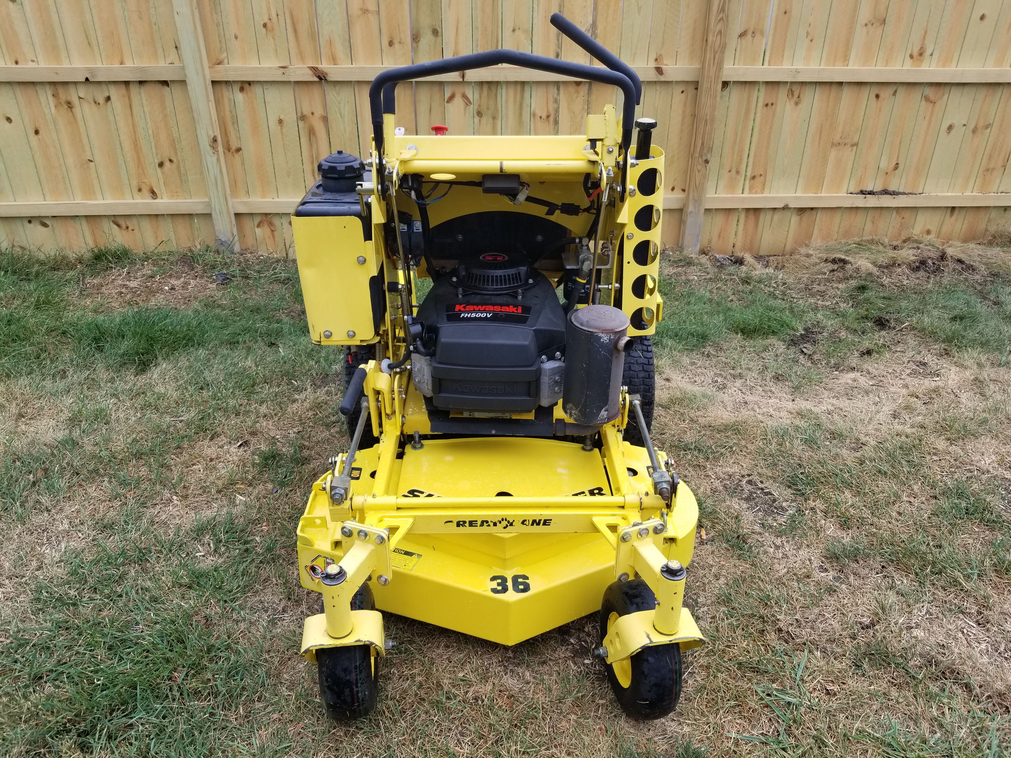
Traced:
[[[599, 611], [594, 655], [640, 719], [670, 713], [703, 643], [681, 605], [698, 506], [649, 439], [656, 122], [635, 120], [628, 66], [551, 21], [608, 68], [498, 50], [385, 71], [369, 158], [325, 159], [291, 219], [312, 340], [347, 351], [351, 446], [298, 525], [324, 601], [302, 654], [337, 719], [375, 706], [377, 607], [502, 645]], [[395, 126], [398, 82], [497, 64], [614, 85], [621, 117], [572, 136]]]

